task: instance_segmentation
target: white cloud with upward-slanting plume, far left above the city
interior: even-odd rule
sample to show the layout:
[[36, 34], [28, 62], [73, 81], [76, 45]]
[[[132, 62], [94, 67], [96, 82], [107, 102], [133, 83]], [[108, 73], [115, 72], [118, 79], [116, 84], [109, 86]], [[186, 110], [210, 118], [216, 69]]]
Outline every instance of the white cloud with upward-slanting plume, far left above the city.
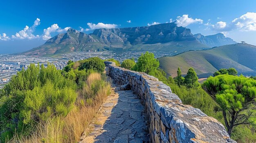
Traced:
[[36, 20], [34, 21], [34, 24], [29, 27], [29, 26], [25, 26], [25, 28], [21, 31], [19, 31], [18, 33], [16, 33], [15, 35], [11, 35], [12, 38], [14, 39], [34, 39], [34, 38], [38, 38], [39, 35], [34, 35], [33, 32], [36, 30], [36, 26], [40, 25], [40, 19], [36, 18]]

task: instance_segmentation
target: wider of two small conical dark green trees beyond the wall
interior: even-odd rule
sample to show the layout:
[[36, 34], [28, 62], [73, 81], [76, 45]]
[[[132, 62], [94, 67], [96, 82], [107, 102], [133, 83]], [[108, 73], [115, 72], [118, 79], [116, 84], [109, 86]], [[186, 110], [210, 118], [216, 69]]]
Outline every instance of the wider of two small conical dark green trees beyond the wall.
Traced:
[[186, 73], [184, 84], [188, 88], [198, 87], [200, 85], [198, 83], [198, 76], [193, 68], [189, 68], [188, 73]]

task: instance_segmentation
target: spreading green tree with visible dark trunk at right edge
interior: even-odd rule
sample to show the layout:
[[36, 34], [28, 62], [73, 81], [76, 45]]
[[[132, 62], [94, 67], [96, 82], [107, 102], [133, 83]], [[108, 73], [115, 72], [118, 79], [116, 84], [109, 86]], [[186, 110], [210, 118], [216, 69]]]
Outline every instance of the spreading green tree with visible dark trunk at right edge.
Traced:
[[202, 88], [220, 106], [229, 136], [234, 126], [254, 121], [256, 80], [218, 75], [204, 81]]

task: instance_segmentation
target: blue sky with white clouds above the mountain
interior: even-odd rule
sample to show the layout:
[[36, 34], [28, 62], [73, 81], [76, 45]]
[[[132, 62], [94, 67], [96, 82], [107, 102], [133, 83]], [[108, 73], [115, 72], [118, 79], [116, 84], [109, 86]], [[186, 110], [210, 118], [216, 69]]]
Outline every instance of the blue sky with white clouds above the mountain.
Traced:
[[256, 45], [255, 0], [5, 0], [1, 6], [0, 53], [29, 50], [69, 27], [92, 33], [101, 27], [147, 26], [170, 19], [193, 34], [221, 32]]

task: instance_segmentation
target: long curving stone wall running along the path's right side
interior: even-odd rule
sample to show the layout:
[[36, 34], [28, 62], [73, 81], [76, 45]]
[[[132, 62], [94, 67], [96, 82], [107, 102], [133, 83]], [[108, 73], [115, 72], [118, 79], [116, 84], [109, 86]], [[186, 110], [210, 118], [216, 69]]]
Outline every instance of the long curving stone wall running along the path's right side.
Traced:
[[105, 62], [118, 84], [130, 84], [145, 105], [152, 143], [236, 143], [224, 126], [201, 110], [182, 104], [171, 88], [146, 73]]

